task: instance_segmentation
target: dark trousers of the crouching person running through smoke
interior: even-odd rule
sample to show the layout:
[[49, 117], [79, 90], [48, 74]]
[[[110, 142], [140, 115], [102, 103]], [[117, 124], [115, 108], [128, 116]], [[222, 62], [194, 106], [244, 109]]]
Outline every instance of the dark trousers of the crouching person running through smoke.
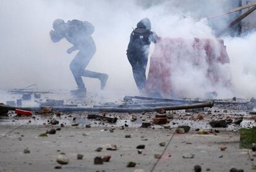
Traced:
[[94, 53], [95, 51], [91, 53], [79, 51], [69, 65], [69, 68], [74, 75], [75, 82], [77, 83], [77, 86], [79, 88], [85, 88], [85, 84], [83, 83], [82, 76], [89, 77], [89, 78], [98, 78], [98, 79], [100, 79], [102, 76], [102, 73], [85, 70], [88, 63], [92, 59]]

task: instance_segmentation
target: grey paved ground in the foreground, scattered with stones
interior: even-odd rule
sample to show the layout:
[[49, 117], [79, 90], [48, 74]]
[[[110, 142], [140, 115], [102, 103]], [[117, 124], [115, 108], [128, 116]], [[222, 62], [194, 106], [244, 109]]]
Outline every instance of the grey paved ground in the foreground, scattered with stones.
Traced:
[[[161, 154], [174, 133], [174, 129], [152, 128], [85, 128], [83, 126], [65, 126], [56, 134], [39, 137], [51, 128], [59, 126], [0, 126], [0, 171], [134, 171], [143, 169], [150, 171], [157, 159], [155, 154]], [[244, 171], [252, 170], [246, 149], [239, 149], [239, 133], [223, 129], [216, 134], [199, 135], [194, 129], [189, 134], [174, 134], [163, 157], [154, 171], [194, 171], [194, 165], [201, 165], [202, 171], [229, 171], [236, 167]], [[125, 138], [130, 134], [131, 138]], [[106, 150], [108, 144], [116, 144], [117, 150]], [[137, 145], [145, 144], [142, 154], [137, 153]], [[30, 149], [30, 154], [23, 154], [23, 149]], [[101, 152], [95, 152], [97, 147], [103, 147]], [[221, 151], [220, 147], [227, 147]], [[64, 152], [69, 158], [67, 165], [60, 170], [56, 157]], [[182, 158], [184, 153], [194, 154], [192, 159]], [[83, 154], [82, 160], [77, 160], [77, 154]], [[110, 162], [94, 165], [96, 156], [111, 155]], [[222, 158], [219, 158], [223, 155]], [[127, 162], [137, 165], [127, 168]]]

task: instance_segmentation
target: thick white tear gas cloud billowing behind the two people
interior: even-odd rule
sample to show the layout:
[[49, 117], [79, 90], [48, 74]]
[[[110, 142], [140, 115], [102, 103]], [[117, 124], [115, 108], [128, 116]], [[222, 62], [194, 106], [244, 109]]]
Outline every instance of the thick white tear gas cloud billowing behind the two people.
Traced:
[[[230, 5], [230, 6], [228, 6]], [[213, 6], [215, 6], [213, 8]], [[161, 37], [214, 38], [214, 29], [224, 28], [232, 15], [214, 20], [195, 22], [197, 18], [219, 14], [233, 7], [231, 1], [1, 1], [0, 2], [0, 88], [23, 88], [38, 84], [40, 89], [74, 89], [76, 84], [69, 63], [76, 52], [65, 39], [52, 43], [49, 31], [56, 18], [78, 19], [95, 26], [93, 39], [96, 54], [87, 69], [109, 74], [103, 94], [138, 94], [126, 49], [132, 27], [148, 17], [152, 31]], [[243, 38], [224, 38], [230, 65], [220, 70], [231, 71], [231, 91], [216, 88], [219, 97], [256, 96], [255, 49], [256, 33]], [[154, 46], [151, 44], [151, 52]], [[150, 56], [149, 56], [150, 58]], [[185, 60], [185, 59], [184, 59]], [[150, 60], [149, 60], [150, 61]], [[148, 63], [149, 67], [149, 63]], [[202, 97], [210, 88], [204, 70], [190, 68], [189, 62], [176, 71], [174, 85], [186, 90], [187, 97]], [[189, 75], [191, 74], [191, 75]], [[195, 80], [195, 77], [200, 80]], [[100, 81], [83, 78], [90, 92], [100, 91]], [[189, 85], [189, 89], [187, 89]], [[184, 87], [184, 88], [182, 88]], [[212, 91], [212, 90], [210, 90]]]

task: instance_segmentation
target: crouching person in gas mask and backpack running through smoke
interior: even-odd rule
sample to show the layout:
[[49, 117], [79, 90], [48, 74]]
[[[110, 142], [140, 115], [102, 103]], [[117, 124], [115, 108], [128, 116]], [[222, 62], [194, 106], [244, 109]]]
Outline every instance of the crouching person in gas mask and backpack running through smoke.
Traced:
[[92, 38], [94, 31], [92, 23], [82, 22], [80, 20], [71, 20], [65, 23], [62, 19], [56, 19], [53, 22], [53, 29], [49, 34], [54, 43], [59, 42], [62, 38], [66, 38], [73, 45], [67, 49], [68, 54], [79, 50], [69, 65], [78, 89], [70, 92], [75, 95], [85, 96], [86, 88], [82, 76], [98, 78], [101, 81], [101, 89], [104, 89], [108, 75], [85, 70], [96, 51], [96, 46]]

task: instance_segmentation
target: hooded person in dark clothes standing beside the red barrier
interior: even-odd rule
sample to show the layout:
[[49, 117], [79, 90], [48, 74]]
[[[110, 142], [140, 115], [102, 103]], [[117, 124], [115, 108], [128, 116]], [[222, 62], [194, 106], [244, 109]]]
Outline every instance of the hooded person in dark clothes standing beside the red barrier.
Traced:
[[147, 81], [146, 68], [150, 43], [156, 43], [158, 36], [151, 31], [151, 22], [143, 18], [137, 23], [137, 28], [130, 34], [130, 42], [127, 48], [127, 58], [132, 65], [132, 72], [137, 88], [141, 92]]

